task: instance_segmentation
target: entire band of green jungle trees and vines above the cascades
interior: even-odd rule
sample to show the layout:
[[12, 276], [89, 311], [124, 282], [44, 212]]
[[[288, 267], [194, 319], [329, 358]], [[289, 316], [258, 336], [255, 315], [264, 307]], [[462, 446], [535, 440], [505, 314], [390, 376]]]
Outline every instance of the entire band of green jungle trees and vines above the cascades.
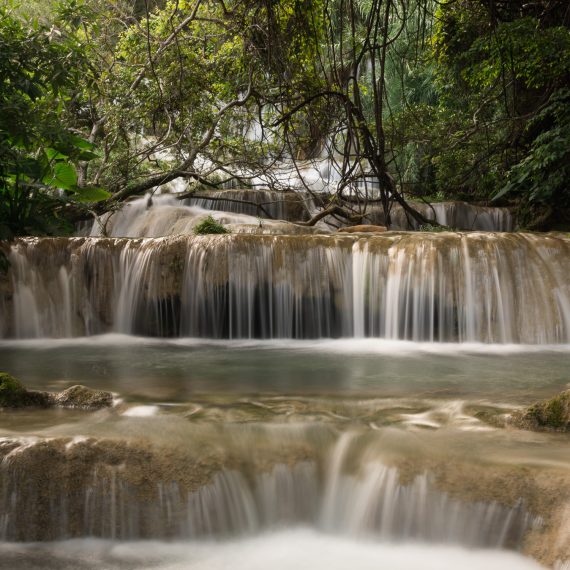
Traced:
[[339, 223], [437, 196], [570, 226], [565, 0], [40, 4], [0, 11], [0, 237], [323, 158]]

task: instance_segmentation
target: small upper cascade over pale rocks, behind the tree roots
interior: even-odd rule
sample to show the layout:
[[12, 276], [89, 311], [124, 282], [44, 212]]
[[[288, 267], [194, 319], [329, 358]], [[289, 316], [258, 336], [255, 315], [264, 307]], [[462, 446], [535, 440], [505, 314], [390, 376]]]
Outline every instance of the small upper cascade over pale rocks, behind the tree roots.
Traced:
[[[235, 233], [290, 234], [329, 233], [338, 220], [328, 216], [314, 227], [286, 222], [307, 221], [320, 211], [318, 195], [307, 192], [269, 190], [219, 190], [181, 199], [176, 194], [157, 194], [136, 198], [122, 208], [87, 222], [81, 235], [92, 237], [163, 237], [192, 234], [194, 227], [207, 216], [227, 225]], [[325, 195], [321, 200], [325, 201]], [[474, 206], [466, 202], [434, 204], [410, 202], [428, 220], [460, 230], [512, 231], [514, 220], [508, 208]], [[378, 203], [354, 204], [354, 212], [362, 215], [362, 223], [386, 225]], [[391, 211], [391, 229], [416, 230], [418, 223], [398, 205]]]

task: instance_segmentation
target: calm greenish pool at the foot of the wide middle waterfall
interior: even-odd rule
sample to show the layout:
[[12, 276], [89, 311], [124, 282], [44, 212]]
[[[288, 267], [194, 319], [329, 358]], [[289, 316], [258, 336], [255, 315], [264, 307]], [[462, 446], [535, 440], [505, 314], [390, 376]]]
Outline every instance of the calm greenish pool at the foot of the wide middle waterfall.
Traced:
[[82, 383], [133, 401], [198, 393], [491, 398], [526, 404], [570, 383], [570, 347], [380, 340], [213, 342], [105, 335], [4, 341], [0, 368], [28, 387]]

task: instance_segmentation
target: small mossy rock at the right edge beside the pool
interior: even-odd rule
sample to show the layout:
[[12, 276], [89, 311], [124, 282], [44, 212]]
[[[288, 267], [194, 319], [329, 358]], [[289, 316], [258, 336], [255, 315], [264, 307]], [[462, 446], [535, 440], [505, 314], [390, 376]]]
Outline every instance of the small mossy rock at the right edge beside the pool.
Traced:
[[515, 412], [510, 423], [521, 429], [570, 432], [570, 390]]

